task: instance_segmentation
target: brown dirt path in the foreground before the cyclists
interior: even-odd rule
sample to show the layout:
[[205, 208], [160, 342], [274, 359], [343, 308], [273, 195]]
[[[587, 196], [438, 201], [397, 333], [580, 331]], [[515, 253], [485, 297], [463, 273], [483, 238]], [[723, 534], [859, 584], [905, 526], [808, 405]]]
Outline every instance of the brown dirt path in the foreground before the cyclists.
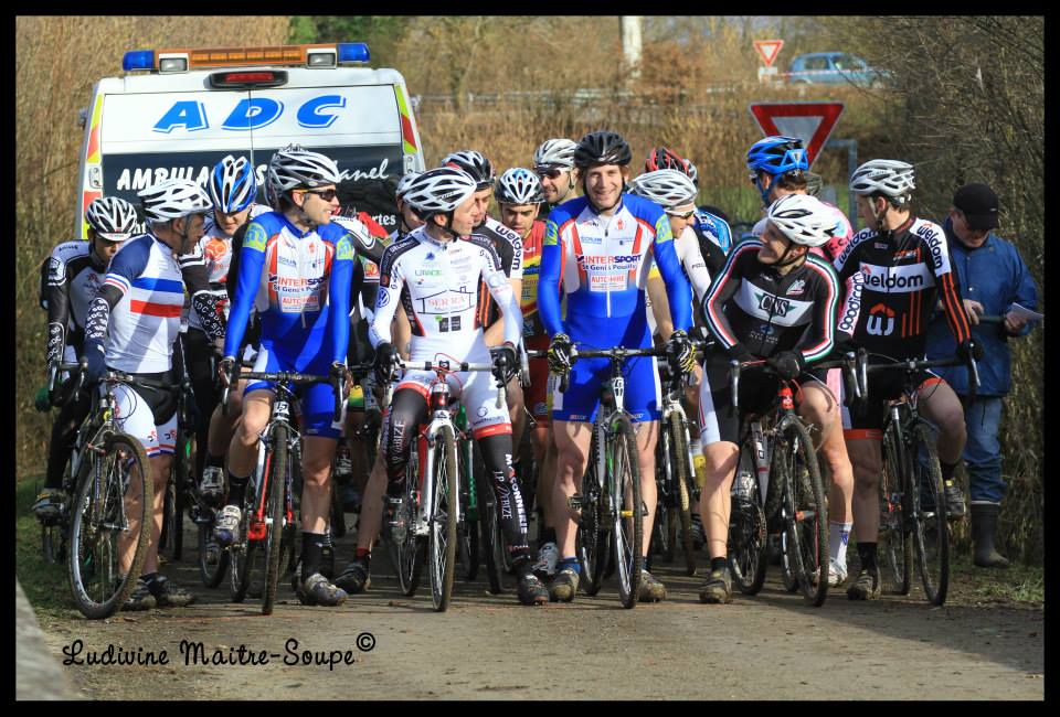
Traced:
[[[193, 541], [189, 541], [191, 543]], [[352, 553], [339, 543], [339, 568]], [[851, 602], [842, 592], [820, 609], [780, 585], [777, 569], [754, 598], [703, 606], [701, 577], [658, 566], [669, 598], [623, 610], [614, 585], [571, 604], [523, 608], [515, 596], [457, 582], [453, 607], [437, 614], [427, 589], [402, 597], [379, 550], [373, 587], [340, 608], [299, 606], [289, 586], [272, 617], [259, 604], [232, 604], [194, 570], [194, 546], [167, 572], [200, 595], [184, 609], [121, 613], [42, 625], [52, 652], [81, 640], [85, 657], [109, 644], [168, 652], [168, 665], [64, 666], [92, 698], [799, 698], [1042, 699], [1043, 611], [955, 604], [931, 609], [914, 592]], [[706, 560], [700, 571], [706, 567]], [[370, 633], [372, 639], [364, 636]], [[349, 651], [352, 664], [288, 665], [298, 652]], [[267, 664], [186, 665], [182, 640], [205, 655], [241, 644]], [[358, 649], [374, 643], [370, 651]], [[341, 656], [339, 657], [341, 660]], [[860, 674], [872, 675], [859, 679]], [[637, 675], [637, 677], [633, 677]], [[868, 683], [861, 692], [851, 686]]]

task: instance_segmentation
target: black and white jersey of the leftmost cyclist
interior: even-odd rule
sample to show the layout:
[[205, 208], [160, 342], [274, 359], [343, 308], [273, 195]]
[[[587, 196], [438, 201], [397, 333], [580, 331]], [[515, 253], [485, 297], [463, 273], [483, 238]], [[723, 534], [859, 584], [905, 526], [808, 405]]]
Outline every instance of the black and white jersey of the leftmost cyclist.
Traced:
[[64, 242], [45, 263], [41, 303], [47, 309], [45, 362], [74, 363], [81, 353], [88, 304], [96, 296], [107, 267], [89, 242]]

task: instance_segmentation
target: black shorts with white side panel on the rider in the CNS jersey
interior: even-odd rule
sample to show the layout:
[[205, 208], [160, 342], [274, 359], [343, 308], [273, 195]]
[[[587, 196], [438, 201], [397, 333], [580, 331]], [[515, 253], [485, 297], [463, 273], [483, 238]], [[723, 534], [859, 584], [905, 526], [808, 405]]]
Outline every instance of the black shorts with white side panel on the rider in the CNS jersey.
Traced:
[[[749, 414], [761, 414], [773, 406], [780, 379], [757, 367], [740, 372], [740, 414], [732, 409], [732, 389], [729, 383], [729, 356], [710, 352], [703, 362], [703, 381], [699, 386], [699, 441], [709, 446], [720, 441], [740, 445], [740, 419]], [[824, 373], [824, 372], [819, 372]], [[802, 385], [814, 384], [828, 390], [817, 373], [803, 372], [795, 379], [795, 404], [802, 399]]]

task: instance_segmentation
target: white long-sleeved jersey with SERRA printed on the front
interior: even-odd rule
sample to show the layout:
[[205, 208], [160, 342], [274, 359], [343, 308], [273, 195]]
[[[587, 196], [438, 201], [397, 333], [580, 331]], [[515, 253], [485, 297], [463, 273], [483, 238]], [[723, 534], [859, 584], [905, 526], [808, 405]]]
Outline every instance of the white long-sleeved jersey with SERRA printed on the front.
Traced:
[[505, 341], [518, 344], [522, 313], [492, 244], [477, 236], [442, 243], [420, 227], [383, 253], [369, 340], [372, 346], [391, 341], [401, 302], [412, 324], [412, 361], [446, 354], [486, 362], [483, 329], [490, 300], [504, 312]]

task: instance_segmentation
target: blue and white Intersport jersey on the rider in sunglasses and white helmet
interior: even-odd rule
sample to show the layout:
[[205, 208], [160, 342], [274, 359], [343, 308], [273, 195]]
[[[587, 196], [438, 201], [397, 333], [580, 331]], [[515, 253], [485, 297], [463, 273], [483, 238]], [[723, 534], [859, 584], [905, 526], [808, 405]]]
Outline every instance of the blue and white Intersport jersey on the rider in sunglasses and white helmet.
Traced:
[[340, 224], [303, 232], [278, 212], [262, 214], [240, 249], [224, 355], [236, 355], [253, 307], [262, 349], [279, 365], [312, 373], [344, 362], [352, 274], [353, 247]]

